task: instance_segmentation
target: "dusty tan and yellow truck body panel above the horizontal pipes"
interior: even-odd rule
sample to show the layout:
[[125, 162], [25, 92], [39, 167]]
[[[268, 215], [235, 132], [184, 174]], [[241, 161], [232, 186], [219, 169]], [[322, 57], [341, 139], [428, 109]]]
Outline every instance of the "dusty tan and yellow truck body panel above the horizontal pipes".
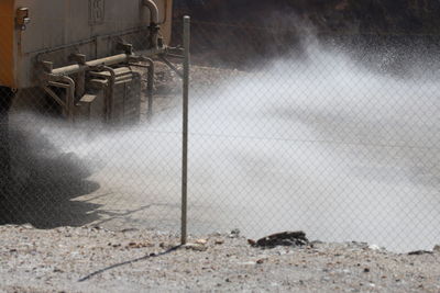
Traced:
[[[158, 10], [160, 35], [167, 44], [172, 0], [150, 0]], [[37, 87], [42, 61], [54, 68], [119, 53], [117, 43], [147, 49], [151, 11], [143, 0], [0, 0], [0, 86]]]

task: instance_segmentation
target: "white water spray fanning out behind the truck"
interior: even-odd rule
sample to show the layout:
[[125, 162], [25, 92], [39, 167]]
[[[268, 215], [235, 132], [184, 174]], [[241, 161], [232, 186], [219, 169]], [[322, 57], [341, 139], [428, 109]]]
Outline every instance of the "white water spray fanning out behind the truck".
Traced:
[[[431, 249], [440, 226], [438, 92], [431, 75], [380, 74], [316, 43], [262, 70], [226, 72], [210, 88], [195, 82], [190, 232], [237, 227], [255, 238], [302, 229], [311, 239]], [[96, 201], [125, 226], [178, 229], [174, 99], [123, 131], [34, 125], [92, 169], [100, 193], [79, 201]]]

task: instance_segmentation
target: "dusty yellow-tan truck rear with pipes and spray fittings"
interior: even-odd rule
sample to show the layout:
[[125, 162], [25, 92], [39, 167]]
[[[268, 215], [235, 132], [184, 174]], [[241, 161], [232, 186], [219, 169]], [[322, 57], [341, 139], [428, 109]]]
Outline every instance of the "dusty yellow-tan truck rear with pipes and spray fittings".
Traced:
[[0, 111], [40, 89], [70, 121], [136, 120], [142, 78], [133, 67], [148, 69], [151, 109], [150, 57], [167, 49], [172, 2], [0, 0]]

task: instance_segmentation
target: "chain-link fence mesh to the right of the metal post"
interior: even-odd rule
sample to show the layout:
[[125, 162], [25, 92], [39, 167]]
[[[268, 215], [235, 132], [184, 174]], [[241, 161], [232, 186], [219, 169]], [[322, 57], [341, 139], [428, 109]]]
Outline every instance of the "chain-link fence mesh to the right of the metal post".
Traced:
[[193, 23], [200, 63], [229, 69], [194, 82], [190, 214], [249, 237], [431, 248], [437, 37], [286, 27]]

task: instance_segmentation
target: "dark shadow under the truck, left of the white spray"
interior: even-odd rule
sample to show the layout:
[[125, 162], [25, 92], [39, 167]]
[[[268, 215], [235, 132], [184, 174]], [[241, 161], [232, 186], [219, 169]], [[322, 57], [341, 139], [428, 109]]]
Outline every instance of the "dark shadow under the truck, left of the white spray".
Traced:
[[[81, 226], [98, 218], [98, 204], [75, 198], [99, 189], [74, 154], [63, 154], [26, 124], [10, 122], [11, 176], [0, 198], [0, 224], [29, 223], [37, 228]], [[32, 123], [31, 123], [32, 124]], [[8, 156], [6, 151], [1, 156]]]

